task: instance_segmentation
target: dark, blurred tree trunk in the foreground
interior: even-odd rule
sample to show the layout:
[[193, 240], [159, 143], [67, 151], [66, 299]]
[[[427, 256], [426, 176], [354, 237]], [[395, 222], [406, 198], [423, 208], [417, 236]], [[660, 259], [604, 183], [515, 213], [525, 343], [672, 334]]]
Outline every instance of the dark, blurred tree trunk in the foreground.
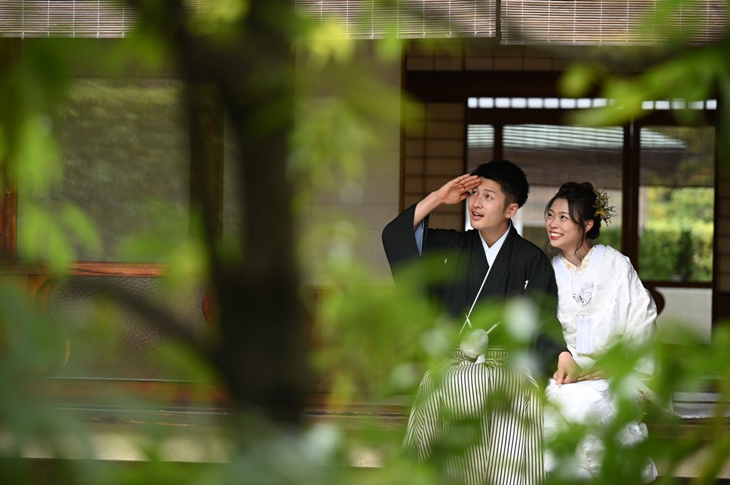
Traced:
[[[293, 184], [285, 174], [294, 111], [293, 36], [287, 30], [293, 25], [291, 2], [250, 1], [224, 39], [191, 31], [180, 15], [180, 1], [134, 4], [143, 27], [159, 32], [176, 53], [192, 92], [205, 85], [215, 92], [207, 96], [219, 96], [230, 122], [226, 128], [239, 144], [241, 260], [220, 254], [220, 201], [208, 200], [207, 190], [191, 194], [200, 199], [192, 203], [207, 208], [207, 249], [221, 330], [213, 359], [239, 408], [259, 408], [277, 422], [299, 423], [310, 374], [298, 297]], [[191, 115], [196, 114], [201, 110], [193, 106]], [[191, 120], [196, 131], [207, 131], [206, 123]], [[193, 134], [193, 143], [196, 136], [200, 132]], [[198, 142], [193, 167], [210, 155], [206, 142]], [[210, 163], [219, 169], [216, 160]]]

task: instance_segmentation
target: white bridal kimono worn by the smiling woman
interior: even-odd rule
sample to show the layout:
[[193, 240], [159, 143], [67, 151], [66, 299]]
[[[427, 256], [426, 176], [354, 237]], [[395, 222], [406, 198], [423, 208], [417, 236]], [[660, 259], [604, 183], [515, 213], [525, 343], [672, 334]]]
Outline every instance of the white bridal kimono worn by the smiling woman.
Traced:
[[[564, 257], [553, 258], [558, 281], [558, 319], [575, 361], [590, 370], [596, 359], [613, 344], [648, 344], [655, 335], [656, 305], [639, 280], [628, 257], [612, 247], [597, 245], [583, 258], [579, 268]], [[634, 368], [638, 382], [650, 378], [654, 371], [649, 356], [637, 361]], [[642, 400], [642, 385], [635, 389], [637, 403]], [[580, 381], [557, 385], [553, 379], [545, 389], [545, 438], [550, 440], [566, 423], [595, 424], [610, 422], [616, 402], [610, 379]], [[648, 438], [642, 422], [631, 422], [619, 435], [621, 446], [633, 446]], [[577, 474], [583, 478], [601, 473], [604, 444], [598, 435], [588, 432], [577, 449]], [[549, 449], [545, 454], [548, 473], [558, 467]], [[645, 483], [656, 478], [652, 460], [642, 472]]]

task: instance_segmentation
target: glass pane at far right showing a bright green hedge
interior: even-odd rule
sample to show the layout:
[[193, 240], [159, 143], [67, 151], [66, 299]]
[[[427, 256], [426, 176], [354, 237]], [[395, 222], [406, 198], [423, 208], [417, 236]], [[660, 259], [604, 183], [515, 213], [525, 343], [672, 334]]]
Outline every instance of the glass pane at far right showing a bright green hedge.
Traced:
[[639, 275], [711, 282], [715, 128], [644, 126], [639, 136]]

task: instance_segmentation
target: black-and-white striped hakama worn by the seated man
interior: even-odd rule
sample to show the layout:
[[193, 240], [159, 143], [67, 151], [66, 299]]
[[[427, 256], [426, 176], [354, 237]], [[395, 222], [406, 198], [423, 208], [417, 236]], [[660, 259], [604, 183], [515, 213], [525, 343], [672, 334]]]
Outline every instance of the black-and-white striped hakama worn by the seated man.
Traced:
[[466, 485], [534, 485], [544, 478], [537, 383], [507, 351], [475, 363], [456, 351], [420, 383], [403, 449]]

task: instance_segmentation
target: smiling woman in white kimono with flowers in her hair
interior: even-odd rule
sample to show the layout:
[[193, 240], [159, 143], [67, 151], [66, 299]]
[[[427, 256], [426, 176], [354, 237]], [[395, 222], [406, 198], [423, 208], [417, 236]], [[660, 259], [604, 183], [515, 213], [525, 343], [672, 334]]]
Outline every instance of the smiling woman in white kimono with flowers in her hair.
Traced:
[[[646, 389], [642, 383], [653, 374], [653, 360], [641, 352], [655, 334], [656, 305], [628, 257], [612, 247], [593, 245], [601, 222], [608, 222], [612, 215], [606, 193], [597, 193], [588, 182], [564, 184], [545, 209], [550, 246], [560, 251], [553, 258], [558, 319], [568, 349], [582, 369], [577, 376], [567, 378], [556, 373], [545, 389], [545, 438], [549, 443], [566, 424], [586, 425], [588, 432], [578, 443], [573, 471], [588, 479], [603, 473], [600, 435], [616, 416], [620, 400], [615, 394], [616, 376], [601, 368], [601, 358], [615, 345], [626, 346], [622, 348], [627, 355], [636, 352], [643, 356], [631, 373], [637, 379], [621, 379], [622, 390], [627, 382], [637, 383], [629, 386], [637, 404], [642, 400], [642, 389]], [[637, 419], [626, 424], [616, 439], [621, 446], [634, 446], [647, 437], [646, 425]], [[550, 451], [546, 452], [545, 468], [548, 473], [566, 470], [558, 468]], [[646, 483], [655, 478], [656, 466], [649, 458], [642, 468], [642, 479]]]

